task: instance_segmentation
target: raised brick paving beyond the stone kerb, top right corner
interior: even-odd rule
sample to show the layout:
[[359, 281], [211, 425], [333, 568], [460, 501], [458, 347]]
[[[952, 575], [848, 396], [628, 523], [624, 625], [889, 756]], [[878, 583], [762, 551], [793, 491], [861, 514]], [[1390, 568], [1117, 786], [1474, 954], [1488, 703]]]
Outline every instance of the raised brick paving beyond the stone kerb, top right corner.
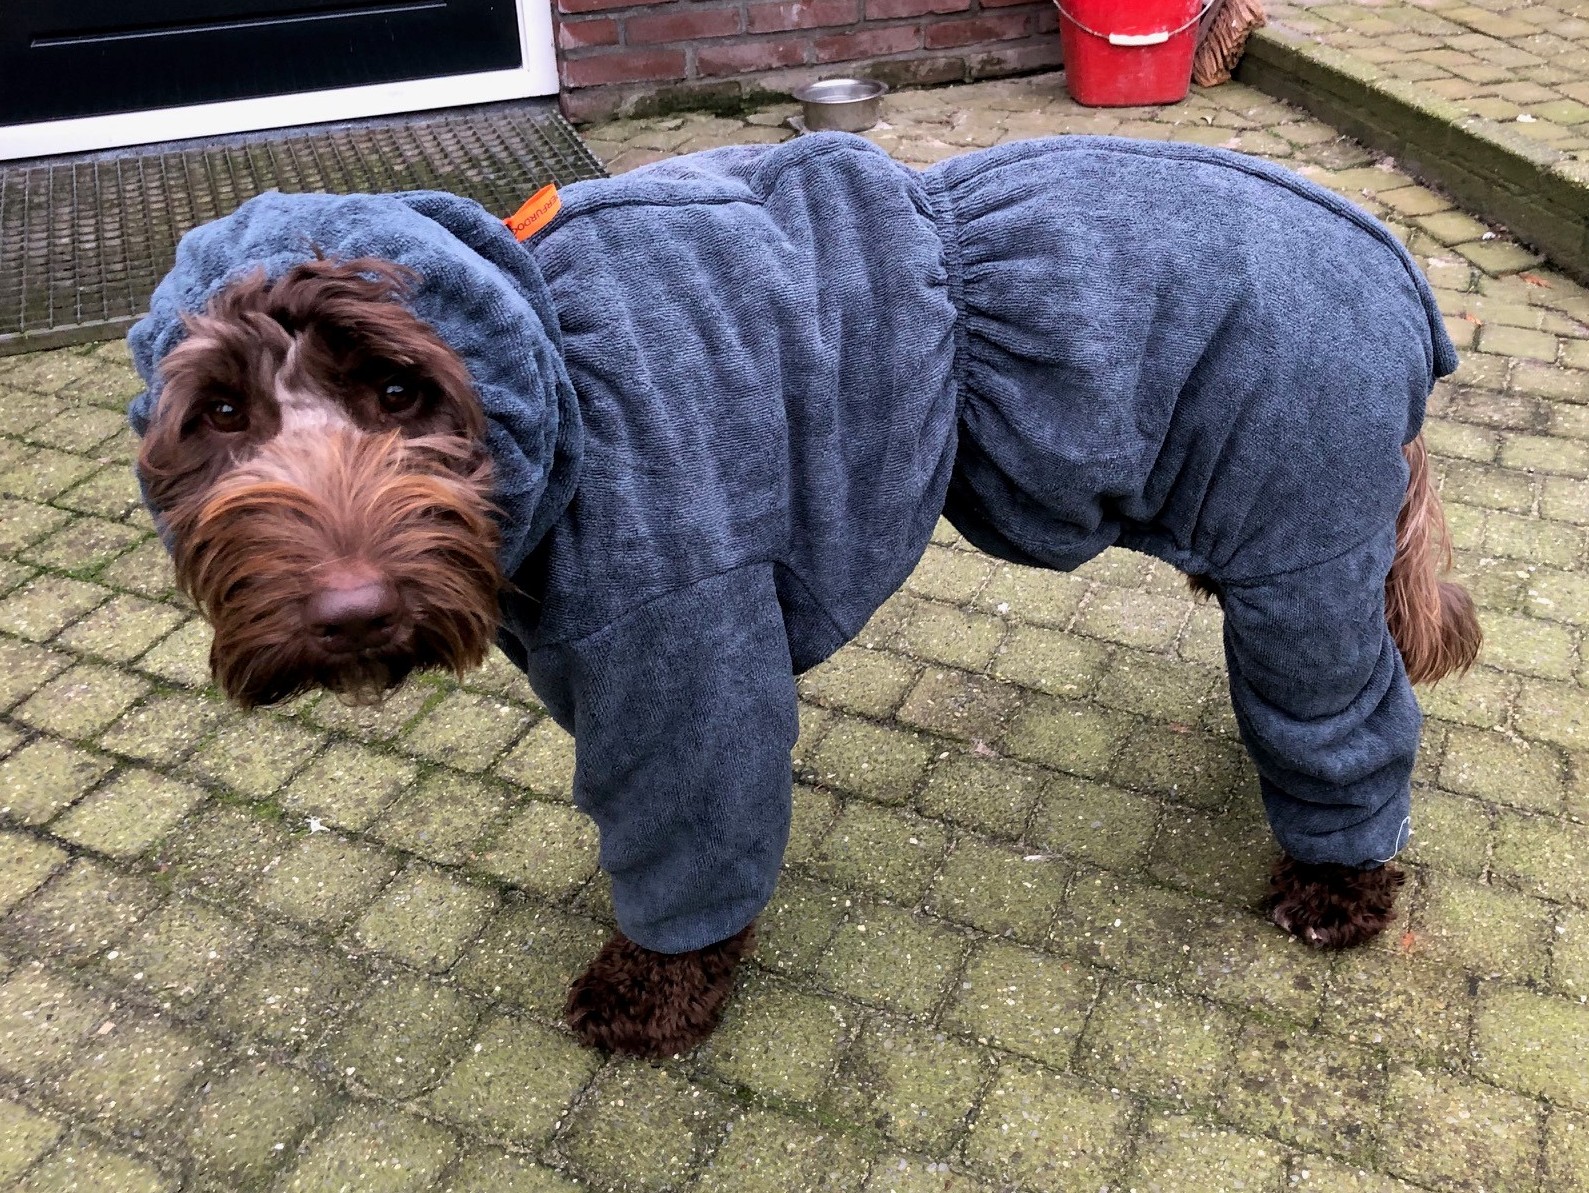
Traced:
[[1266, 8], [1276, 29], [1589, 160], [1584, 0], [1268, 0]]

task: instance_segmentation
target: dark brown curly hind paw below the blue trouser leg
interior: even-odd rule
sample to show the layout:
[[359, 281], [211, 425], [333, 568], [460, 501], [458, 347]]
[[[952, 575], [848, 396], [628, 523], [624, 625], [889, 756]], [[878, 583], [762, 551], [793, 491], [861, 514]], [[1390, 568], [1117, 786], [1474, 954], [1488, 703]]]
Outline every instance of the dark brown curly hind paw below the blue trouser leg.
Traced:
[[1395, 866], [1360, 871], [1282, 855], [1270, 875], [1270, 920], [1316, 948], [1351, 948], [1395, 920], [1403, 882]]

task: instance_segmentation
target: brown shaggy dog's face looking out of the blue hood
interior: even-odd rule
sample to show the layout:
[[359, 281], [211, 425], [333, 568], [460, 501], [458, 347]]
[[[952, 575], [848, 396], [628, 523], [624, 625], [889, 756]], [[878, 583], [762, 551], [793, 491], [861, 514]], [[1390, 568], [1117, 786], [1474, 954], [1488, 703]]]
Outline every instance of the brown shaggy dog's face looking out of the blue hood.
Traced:
[[469, 372], [412, 278], [313, 261], [232, 284], [162, 362], [138, 467], [210, 666], [243, 705], [369, 701], [467, 670], [496, 632], [497, 531]]

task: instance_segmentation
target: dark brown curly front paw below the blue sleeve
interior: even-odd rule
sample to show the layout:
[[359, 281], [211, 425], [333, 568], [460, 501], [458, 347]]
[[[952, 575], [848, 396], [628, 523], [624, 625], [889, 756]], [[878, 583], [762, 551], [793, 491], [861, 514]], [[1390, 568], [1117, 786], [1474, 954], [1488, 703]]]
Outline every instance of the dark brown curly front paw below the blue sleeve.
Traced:
[[629, 1056], [688, 1052], [717, 1028], [755, 925], [690, 953], [653, 953], [621, 932], [569, 988], [564, 1021], [583, 1044]]

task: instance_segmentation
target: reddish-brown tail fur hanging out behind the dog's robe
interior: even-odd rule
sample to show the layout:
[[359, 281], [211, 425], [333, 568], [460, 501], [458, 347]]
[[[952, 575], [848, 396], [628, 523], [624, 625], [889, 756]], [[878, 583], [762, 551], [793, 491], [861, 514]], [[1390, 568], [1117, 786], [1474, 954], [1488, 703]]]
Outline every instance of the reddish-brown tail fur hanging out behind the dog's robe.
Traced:
[[1409, 473], [1395, 523], [1395, 559], [1386, 577], [1386, 623], [1401, 650], [1406, 677], [1435, 683], [1473, 666], [1484, 632], [1467, 589], [1440, 578], [1451, 569], [1451, 535], [1429, 475], [1424, 437], [1401, 451]]

